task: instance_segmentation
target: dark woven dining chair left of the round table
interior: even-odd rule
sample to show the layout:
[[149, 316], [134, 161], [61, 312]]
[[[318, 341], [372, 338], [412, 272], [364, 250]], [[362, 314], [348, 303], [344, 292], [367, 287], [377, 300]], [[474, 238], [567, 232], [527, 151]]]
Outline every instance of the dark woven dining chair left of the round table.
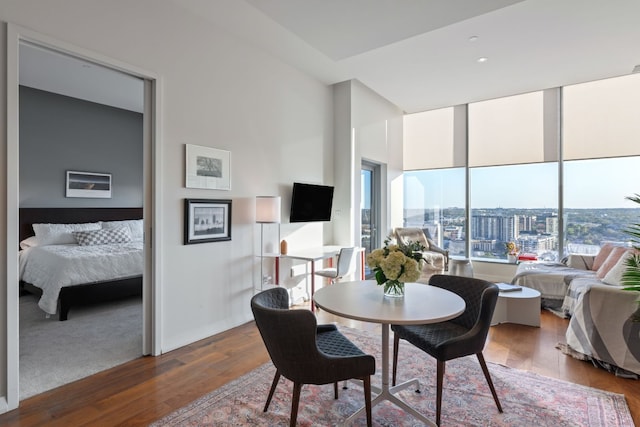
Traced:
[[264, 412], [267, 412], [280, 376], [293, 382], [291, 420], [298, 417], [303, 384], [333, 383], [338, 398], [338, 381], [359, 379], [363, 383], [367, 425], [371, 426], [371, 375], [375, 358], [362, 352], [335, 325], [318, 325], [315, 315], [306, 309], [289, 310], [286, 289], [276, 287], [251, 298], [251, 310], [276, 373]]

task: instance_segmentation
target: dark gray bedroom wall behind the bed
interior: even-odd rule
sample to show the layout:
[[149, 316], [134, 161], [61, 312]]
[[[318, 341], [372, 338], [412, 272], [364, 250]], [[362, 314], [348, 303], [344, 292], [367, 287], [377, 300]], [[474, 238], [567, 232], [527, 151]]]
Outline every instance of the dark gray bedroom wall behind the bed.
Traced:
[[[20, 86], [20, 207], [141, 207], [142, 114]], [[66, 172], [110, 173], [111, 198], [65, 197]]]

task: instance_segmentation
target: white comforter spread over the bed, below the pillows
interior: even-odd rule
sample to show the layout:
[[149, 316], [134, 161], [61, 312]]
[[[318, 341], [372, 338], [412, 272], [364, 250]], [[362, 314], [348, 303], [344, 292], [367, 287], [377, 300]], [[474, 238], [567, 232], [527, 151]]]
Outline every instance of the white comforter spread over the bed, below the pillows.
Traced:
[[60, 289], [140, 276], [143, 242], [80, 246], [48, 245], [20, 251], [20, 280], [42, 289], [38, 306], [56, 314]]

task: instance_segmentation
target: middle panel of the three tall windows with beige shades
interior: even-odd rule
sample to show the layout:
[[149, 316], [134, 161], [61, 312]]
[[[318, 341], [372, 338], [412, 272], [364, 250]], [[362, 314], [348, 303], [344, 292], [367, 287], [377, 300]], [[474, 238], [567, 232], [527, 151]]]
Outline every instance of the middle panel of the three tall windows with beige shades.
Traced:
[[469, 104], [473, 258], [506, 260], [508, 244], [558, 258], [558, 121], [545, 116], [557, 99], [549, 90]]

